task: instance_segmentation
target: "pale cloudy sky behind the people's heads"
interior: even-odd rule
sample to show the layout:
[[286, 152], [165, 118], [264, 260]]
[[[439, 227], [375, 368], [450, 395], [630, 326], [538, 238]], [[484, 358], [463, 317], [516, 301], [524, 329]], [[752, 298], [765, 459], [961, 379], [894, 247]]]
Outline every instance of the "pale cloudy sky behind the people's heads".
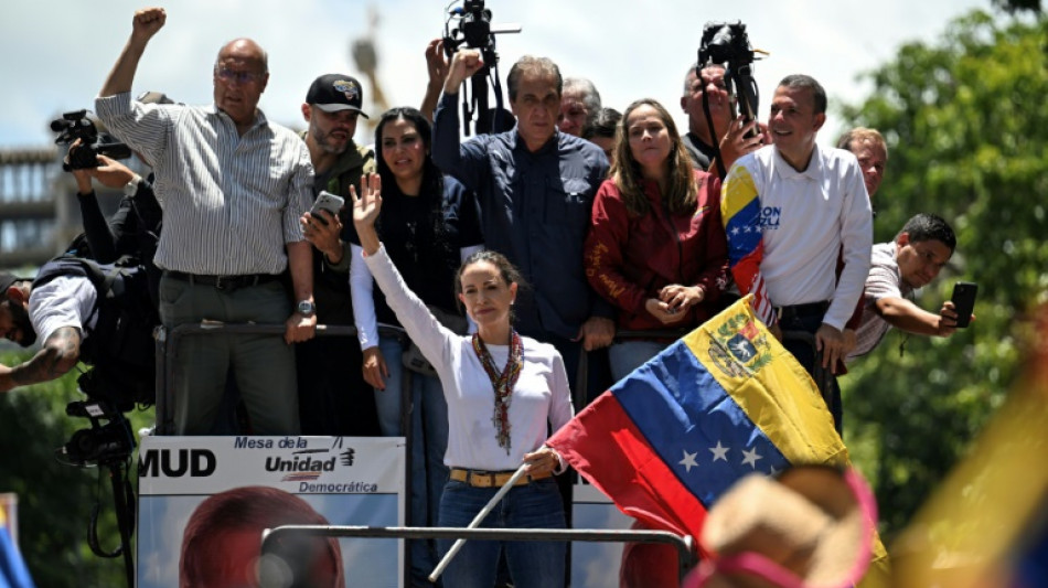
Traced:
[[[128, 0], [4, 2], [0, 148], [46, 146], [53, 139], [52, 118], [89, 108], [127, 40], [131, 14], [142, 6]], [[387, 100], [417, 105], [426, 83], [423, 51], [442, 32], [445, 6], [443, 0], [182, 0], [168, 7], [167, 26], [147, 49], [135, 92], [157, 89], [180, 101], [210, 103], [218, 47], [252, 36], [270, 55], [261, 108], [272, 120], [300, 126], [300, 106], [314, 77], [360, 76], [350, 44], [367, 33], [368, 8], [375, 7]], [[890, 60], [906, 41], [937, 39], [950, 19], [972, 8], [990, 10], [990, 0], [488, 0], [486, 6], [496, 23], [524, 28], [522, 34], [500, 38], [503, 77], [520, 55], [545, 55], [564, 75], [591, 78], [605, 104], [620, 110], [651, 96], [678, 113], [683, 74], [695, 60], [703, 24], [741, 20], [753, 46], [771, 52], [755, 66], [763, 117], [776, 83], [791, 73], [822, 82], [831, 105], [858, 101], [869, 92], [868, 84], [856, 82], [859, 73]], [[363, 82], [370, 99], [373, 88]], [[379, 113], [372, 107], [371, 114]], [[833, 142], [840, 130], [832, 115], [820, 141]], [[364, 135], [357, 135], [362, 142]]]

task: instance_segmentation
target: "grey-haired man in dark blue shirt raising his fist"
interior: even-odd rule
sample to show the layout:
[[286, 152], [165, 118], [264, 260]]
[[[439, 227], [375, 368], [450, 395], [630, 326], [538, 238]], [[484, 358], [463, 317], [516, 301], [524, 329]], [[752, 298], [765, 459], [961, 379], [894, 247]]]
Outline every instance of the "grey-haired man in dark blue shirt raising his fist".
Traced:
[[613, 310], [586, 280], [582, 242], [608, 159], [593, 143], [559, 132], [563, 78], [548, 58], [524, 56], [506, 85], [516, 128], [459, 141], [458, 92], [483, 66], [481, 54], [455, 54], [434, 121], [434, 161], [477, 193], [488, 248], [505, 255], [531, 288], [517, 297], [522, 334], [553, 344], [569, 377], [580, 349], [606, 348]]

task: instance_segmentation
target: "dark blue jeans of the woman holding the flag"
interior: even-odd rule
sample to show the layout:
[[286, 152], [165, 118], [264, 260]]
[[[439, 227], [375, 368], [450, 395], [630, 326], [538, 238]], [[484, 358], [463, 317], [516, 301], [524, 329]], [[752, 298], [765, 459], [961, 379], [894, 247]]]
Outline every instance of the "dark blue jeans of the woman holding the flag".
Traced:
[[[440, 526], [464, 527], [498, 492], [450, 481], [440, 499]], [[560, 493], [553, 478], [510, 490], [480, 524], [481, 528], [565, 528]], [[438, 539], [440, 555], [453, 539]], [[514, 588], [564, 586], [566, 544], [547, 541], [468, 541], [443, 573], [443, 584], [455, 588], [491, 588], [495, 584], [499, 553], [505, 547]]]

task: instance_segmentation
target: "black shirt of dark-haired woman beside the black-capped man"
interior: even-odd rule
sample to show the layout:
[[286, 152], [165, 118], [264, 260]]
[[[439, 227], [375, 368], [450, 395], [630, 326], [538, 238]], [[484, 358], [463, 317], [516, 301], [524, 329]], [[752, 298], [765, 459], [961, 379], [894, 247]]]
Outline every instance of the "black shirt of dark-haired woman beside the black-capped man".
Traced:
[[[458, 314], [455, 275], [461, 264], [460, 249], [483, 244], [477, 200], [458, 180], [446, 175], [441, 197], [443, 222], [438, 236], [430, 217], [430, 199], [435, 196], [426, 193], [405, 196], [399, 191], [384, 191], [378, 236], [404, 282], [416, 296], [427, 304]], [[360, 245], [355, 228], [352, 224], [350, 227], [350, 243]], [[399, 324], [377, 286], [374, 299], [378, 322]]]

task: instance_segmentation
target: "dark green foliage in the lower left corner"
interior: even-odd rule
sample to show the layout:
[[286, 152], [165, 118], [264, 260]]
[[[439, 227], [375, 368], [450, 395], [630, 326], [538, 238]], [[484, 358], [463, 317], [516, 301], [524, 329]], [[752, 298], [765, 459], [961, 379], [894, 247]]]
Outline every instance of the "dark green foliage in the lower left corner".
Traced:
[[[0, 363], [13, 365], [28, 352], [0, 353]], [[60, 463], [55, 448], [85, 418], [68, 417], [66, 403], [82, 400], [75, 370], [65, 376], [0, 395], [0, 492], [19, 496], [19, 544], [36, 586], [124, 586], [124, 562], [96, 557], [87, 544], [92, 507], [100, 506], [100, 547], [120, 545], [113, 494], [105, 470]], [[152, 423], [153, 411], [132, 413], [132, 429]], [[137, 459], [137, 458], [136, 458]]]

